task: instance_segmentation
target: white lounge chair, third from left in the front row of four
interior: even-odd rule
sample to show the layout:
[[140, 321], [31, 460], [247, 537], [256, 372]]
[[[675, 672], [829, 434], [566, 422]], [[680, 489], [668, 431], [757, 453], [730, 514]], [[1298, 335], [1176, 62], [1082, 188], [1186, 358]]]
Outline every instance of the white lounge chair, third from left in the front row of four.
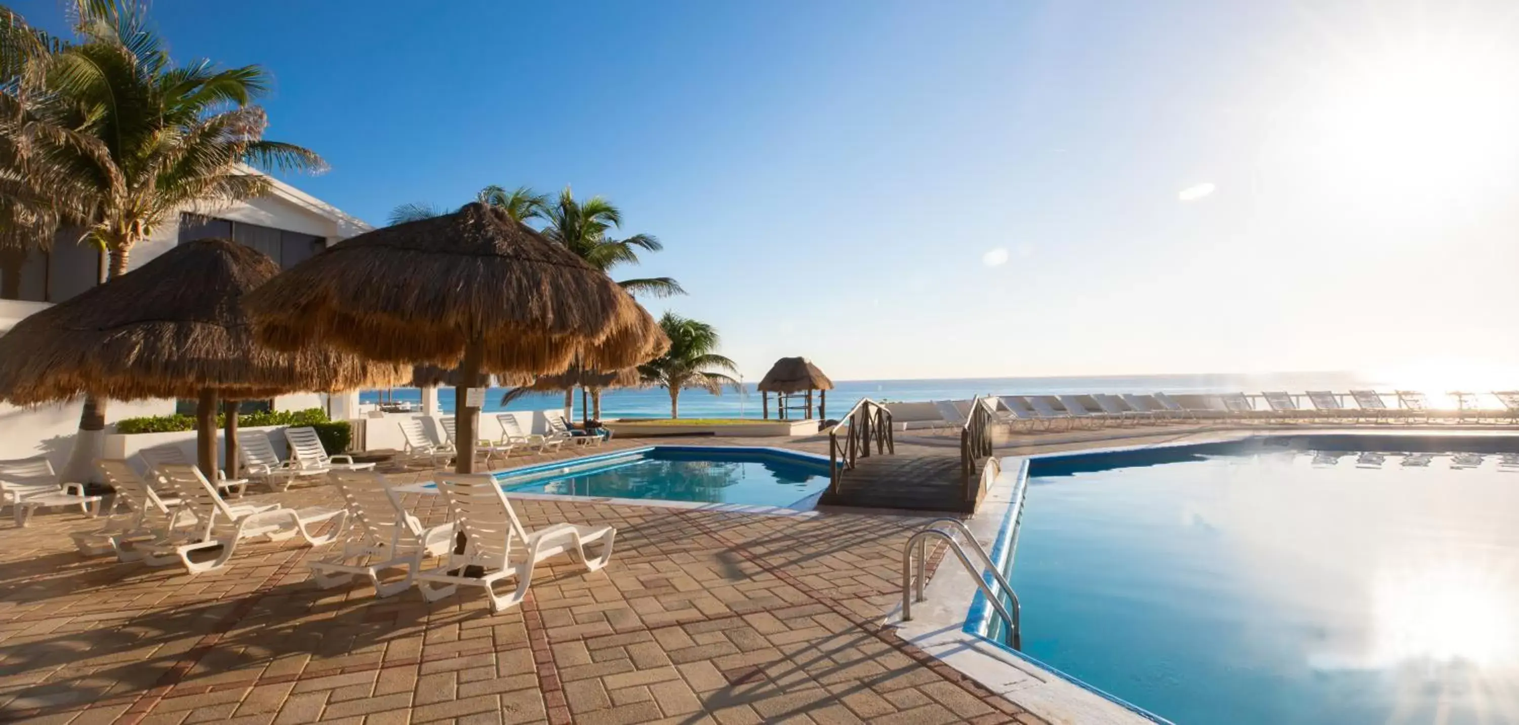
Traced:
[[[343, 494], [348, 532], [340, 550], [311, 562], [311, 579], [331, 588], [368, 576], [375, 596], [406, 591], [422, 570], [424, 556], [442, 556], [454, 546], [454, 524], [430, 529], [409, 514], [384, 476], [374, 471], [328, 473], [328, 480]], [[380, 571], [406, 571], [399, 582], [381, 582]]]

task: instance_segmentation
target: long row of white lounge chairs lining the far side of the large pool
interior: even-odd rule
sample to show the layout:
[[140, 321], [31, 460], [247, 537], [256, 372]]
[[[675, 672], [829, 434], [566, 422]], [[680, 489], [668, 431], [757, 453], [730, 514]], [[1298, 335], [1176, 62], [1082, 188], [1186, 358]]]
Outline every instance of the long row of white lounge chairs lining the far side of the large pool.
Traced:
[[[1197, 421], [1329, 421], [1329, 423], [1429, 423], [1434, 416], [1454, 418], [1457, 423], [1519, 423], [1519, 391], [1493, 392], [1504, 409], [1483, 409], [1478, 397], [1470, 392], [1452, 392], [1457, 409], [1449, 415], [1431, 410], [1425, 395], [1417, 391], [1397, 391], [1396, 406], [1387, 404], [1376, 391], [1350, 391], [1355, 403], [1346, 406], [1346, 395], [1331, 391], [1308, 391], [1293, 395], [1285, 391], [1262, 392], [1265, 407], [1256, 407], [1252, 397], [1243, 392], [1223, 395], [1185, 397], [1186, 404], [1164, 394], [1092, 394], [1092, 395], [1001, 395], [996, 398], [996, 413], [1015, 430], [1063, 430], [1075, 427], [1133, 426], [1157, 423]], [[1299, 404], [1306, 398], [1308, 404]], [[1195, 403], [1194, 403], [1195, 401]], [[965, 424], [965, 413], [951, 401], [934, 401], [940, 415], [951, 426]]]

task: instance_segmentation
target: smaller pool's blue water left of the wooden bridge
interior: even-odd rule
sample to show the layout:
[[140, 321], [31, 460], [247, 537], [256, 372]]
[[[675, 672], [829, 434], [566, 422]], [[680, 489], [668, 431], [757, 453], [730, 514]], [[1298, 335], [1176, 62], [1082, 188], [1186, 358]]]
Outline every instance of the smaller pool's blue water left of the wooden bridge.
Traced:
[[781, 451], [656, 447], [498, 479], [509, 492], [810, 509], [828, 488], [828, 464]]

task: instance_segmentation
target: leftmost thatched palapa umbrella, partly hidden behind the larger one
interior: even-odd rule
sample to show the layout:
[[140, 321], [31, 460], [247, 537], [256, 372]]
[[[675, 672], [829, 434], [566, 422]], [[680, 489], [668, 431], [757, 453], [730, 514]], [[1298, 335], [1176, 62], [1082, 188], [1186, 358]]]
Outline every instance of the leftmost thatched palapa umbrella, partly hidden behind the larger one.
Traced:
[[[404, 380], [409, 369], [399, 365], [313, 347], [281, 353], [258, 344], [240, 302], [276, 274], [273, 260], [245, 245], [222, 239], [179, 245], [23, 319], [0, 337], [0, 398], [15, 404], [85, 394], [199, 398], [196, 450], [201, 468], [213, 473], [217, 398], [257, 400]], [[235, 421], [235, 412], [228, 410], [229, 433]], [[234, 462], [235, 450], [229, 436]]]

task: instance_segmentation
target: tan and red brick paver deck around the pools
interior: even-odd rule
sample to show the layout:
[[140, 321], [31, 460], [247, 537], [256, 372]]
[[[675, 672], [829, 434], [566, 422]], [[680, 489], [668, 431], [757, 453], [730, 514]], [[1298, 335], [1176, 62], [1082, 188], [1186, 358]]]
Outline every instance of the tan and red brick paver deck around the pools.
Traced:
[[[899, 439], [898, 451], [946, 445]], [[337, 506], [325, 485], [249, 499]], [[444, 520], [433, 495], [407, 503]], [[529, 527], [615, 526], [612, 564], [541, 565], [523, 606], [491, 614], [469, 590], [431, 605], [415, 590], [374, 599], [358, 581], [319, 590], [307, 561], [328, 547], [299, 538], [245, 544], [226, 570], [188, 576], [81, 556], [68, 532], [99, 521], [79, 512], [3, 524], [0, 720], [1044, 722], [880, 625], [916, 515], [513, 505]]]

